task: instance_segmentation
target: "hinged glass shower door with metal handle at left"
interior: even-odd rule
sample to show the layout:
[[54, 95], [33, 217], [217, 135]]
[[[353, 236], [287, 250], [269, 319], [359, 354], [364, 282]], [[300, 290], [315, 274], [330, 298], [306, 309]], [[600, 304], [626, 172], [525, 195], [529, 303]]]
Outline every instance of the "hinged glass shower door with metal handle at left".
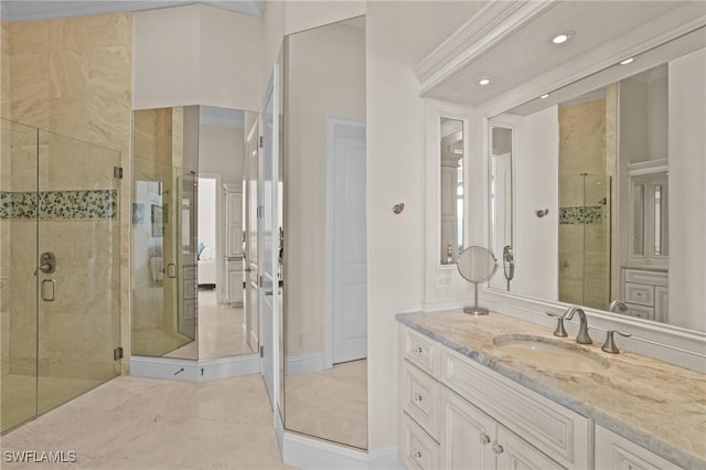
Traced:
[[39, 131], [38, 414], [120, 374], [120, 153]]

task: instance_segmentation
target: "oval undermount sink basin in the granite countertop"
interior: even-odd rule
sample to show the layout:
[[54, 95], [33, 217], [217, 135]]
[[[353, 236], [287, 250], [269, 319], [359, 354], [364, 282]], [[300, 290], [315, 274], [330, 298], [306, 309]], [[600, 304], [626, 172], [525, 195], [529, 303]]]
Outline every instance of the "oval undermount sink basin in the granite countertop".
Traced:
[[555, 371], [600, 372], [610, 363], [578, 344], [530, 334], [503, 334], [493, 343], [509, 355], [537, 367]]

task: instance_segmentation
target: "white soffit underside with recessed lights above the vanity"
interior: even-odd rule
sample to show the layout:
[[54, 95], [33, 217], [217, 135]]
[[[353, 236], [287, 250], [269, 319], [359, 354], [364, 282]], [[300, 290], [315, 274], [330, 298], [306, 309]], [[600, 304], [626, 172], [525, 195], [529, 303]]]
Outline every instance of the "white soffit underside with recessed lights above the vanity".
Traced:
[[[693, 10], [692, 18], [706, 14], [702, 1], [557, 2], [425, 96], [481, 105], [640, 26], [659, 23], [677, 8]], [[565, 30], [575, 31], [575, 38], [563, 45], [552, 44], [550, 38]], [[655, 35], [659, 33], [655, 28]], [[479, 86], [483, 76], [491, 76], [492, 84]]]

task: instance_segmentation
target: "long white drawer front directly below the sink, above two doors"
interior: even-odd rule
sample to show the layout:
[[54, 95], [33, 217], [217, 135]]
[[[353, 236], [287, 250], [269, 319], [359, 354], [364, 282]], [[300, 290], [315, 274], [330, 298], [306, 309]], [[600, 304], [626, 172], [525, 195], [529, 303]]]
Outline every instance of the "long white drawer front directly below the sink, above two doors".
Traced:
[[441, 382], [563, 466], [588, 468], [587, 418], [443, 348]]

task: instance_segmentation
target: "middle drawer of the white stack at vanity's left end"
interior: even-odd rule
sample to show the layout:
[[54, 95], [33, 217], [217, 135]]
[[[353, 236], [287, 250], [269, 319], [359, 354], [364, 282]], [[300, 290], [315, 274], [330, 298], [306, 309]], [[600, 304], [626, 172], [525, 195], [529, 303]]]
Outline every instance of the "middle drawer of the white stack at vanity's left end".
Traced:
[[403, 361], [403, 409], [439, 440], [439, 387], [435, 378]]

